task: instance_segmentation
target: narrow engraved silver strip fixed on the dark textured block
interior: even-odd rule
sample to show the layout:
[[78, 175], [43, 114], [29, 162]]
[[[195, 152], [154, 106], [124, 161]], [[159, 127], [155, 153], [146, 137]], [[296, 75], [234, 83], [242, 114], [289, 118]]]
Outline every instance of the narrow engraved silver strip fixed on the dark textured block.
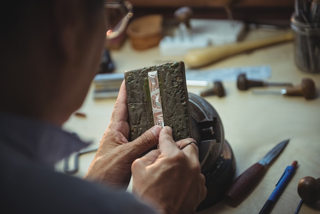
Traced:
[[165, 121], [164, 121], [164, 116], [162, 111], [158, 71], [148, 72], [148, 79], [149, 79], [149, 89], [150, 89], [154, 125], [161, 125], [162, 127], [164, 127]]

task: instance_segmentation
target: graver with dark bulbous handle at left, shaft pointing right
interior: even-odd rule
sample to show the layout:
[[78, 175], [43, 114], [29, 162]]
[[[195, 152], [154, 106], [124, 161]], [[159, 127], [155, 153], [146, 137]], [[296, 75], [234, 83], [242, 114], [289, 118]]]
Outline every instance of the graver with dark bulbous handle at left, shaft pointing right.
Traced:
[[237, 78], [237, 88], [241, 91], [245, 91], [252, 87], [266, 87], [266, 86], [287, 86], [292, 87], [290, 82], [265, 82], [259, 80], [247, 79], [246, 74], [241, 73]]

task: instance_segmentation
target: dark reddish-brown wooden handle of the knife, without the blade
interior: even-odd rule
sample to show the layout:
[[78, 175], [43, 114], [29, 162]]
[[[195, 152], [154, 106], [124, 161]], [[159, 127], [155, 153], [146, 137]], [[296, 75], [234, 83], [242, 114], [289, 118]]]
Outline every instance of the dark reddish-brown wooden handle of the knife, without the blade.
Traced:
[[226, 198], [228, 200], [235, 200], [240, 195], [243, 195], [247, 190], [252, 188], [265, 171], [265, 166], [260, 163], [255, 163], [245, 170], [226, 191]]

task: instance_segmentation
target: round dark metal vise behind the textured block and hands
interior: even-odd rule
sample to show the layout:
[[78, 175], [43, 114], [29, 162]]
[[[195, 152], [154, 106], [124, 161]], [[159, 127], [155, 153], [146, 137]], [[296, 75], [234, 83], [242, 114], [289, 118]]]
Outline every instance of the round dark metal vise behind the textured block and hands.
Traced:
[[205, 176], [207, 197], [197, 210], [219, 202], [231, 185], [236, 162], [230, 144], [224, 139], [222, 121], [213, 106], [204, 98], [189, 93], [189, 115], [193, 138], [199, 145], [201, 173]]

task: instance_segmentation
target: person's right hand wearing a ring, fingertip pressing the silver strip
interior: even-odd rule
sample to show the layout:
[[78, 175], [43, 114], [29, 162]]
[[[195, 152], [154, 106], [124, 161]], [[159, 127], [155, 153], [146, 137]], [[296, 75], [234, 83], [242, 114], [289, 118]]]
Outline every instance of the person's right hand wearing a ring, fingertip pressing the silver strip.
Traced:
[[133, 162], [132, 177], [133, 193], [161, 213], [194, 213], [207, 195], [195, 141], [174, 142], [168, 126], [159, 134], [159, 149]]

